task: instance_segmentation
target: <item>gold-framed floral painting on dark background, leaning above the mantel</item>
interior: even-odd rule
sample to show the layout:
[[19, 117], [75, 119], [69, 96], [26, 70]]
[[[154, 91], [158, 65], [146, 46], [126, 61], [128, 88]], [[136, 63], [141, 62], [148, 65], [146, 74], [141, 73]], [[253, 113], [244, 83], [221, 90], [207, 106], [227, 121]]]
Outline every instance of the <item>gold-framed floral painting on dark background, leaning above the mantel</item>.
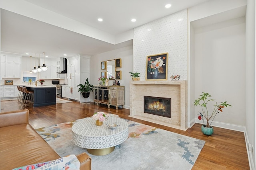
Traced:
[[147, 56], [146, 80], [167, 80], [168, 53]]

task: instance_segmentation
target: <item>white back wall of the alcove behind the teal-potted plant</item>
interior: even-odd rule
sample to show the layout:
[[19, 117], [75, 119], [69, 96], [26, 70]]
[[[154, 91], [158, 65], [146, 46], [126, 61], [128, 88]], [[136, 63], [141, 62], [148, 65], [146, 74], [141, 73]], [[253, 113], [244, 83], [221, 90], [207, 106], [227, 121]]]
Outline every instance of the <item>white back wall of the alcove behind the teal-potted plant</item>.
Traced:
[[[233, 107], [224, 108], [214, 121], [245, 126], [245, 18], [196, 28], [194, 36], [196, 98], [208, 92], [216, 102], [227, 101]], [[198, 111], [195, 107], [195, 117]]]

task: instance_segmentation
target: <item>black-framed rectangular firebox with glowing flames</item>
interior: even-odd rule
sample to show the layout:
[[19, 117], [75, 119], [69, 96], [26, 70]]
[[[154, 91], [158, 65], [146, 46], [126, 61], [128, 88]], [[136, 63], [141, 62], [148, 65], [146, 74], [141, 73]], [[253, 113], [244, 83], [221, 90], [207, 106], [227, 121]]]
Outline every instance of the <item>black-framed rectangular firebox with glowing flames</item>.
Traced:
[[144, 113], [171, 118], [171, 98], [144, 96]]

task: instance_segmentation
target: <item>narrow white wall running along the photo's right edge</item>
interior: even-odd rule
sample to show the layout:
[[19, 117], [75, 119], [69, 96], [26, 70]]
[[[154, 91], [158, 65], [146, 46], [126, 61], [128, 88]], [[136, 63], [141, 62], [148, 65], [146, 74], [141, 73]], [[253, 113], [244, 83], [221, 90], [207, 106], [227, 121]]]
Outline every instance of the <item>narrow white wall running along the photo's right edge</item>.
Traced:
[[246, 141], [253, 146], [250, 156], [250, 168], [255, 169], [255, 0], [247, 0], [246, 9]]

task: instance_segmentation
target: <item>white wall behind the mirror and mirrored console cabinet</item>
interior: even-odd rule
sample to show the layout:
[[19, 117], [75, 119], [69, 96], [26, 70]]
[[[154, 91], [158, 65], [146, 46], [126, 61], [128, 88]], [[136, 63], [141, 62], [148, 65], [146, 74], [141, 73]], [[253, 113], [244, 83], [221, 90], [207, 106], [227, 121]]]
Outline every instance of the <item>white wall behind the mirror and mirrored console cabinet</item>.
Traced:
[[[121, 59], [122, 68], [116, 68], [121, 70], [122, 80], [119, 80], [121, 86], [124, 87], [124, 107], [130, 108], [130, 90], [129, 83], [132, 80], [129, 72], [133, 72], [133, 48], [132, 46], [108, 51], [91, 57], [91, 71], [90, 71], [90, 84], [99, 84], [98, 78], [101, 76], [101, 62], [113, 59]], [[116, 77], [116, 76], [115, 76]], [[112, 84], [113, 80], [109, 80]], [[90, 100], [93, 100], [93, 96], [90, 96]]]

